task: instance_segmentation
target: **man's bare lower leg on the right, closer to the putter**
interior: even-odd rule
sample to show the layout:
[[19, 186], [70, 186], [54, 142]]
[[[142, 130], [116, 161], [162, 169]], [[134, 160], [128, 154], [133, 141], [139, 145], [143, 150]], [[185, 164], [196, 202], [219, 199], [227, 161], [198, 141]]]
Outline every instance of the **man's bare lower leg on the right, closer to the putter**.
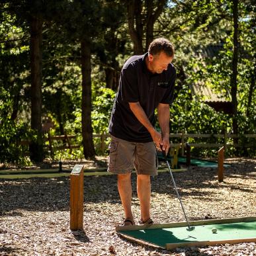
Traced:
[[140, 199], [140, 215], [142, 222], [146, 222], [150, 218], [150, 194], [151, 183], [149, 175], [137, 176], [137, 193]]

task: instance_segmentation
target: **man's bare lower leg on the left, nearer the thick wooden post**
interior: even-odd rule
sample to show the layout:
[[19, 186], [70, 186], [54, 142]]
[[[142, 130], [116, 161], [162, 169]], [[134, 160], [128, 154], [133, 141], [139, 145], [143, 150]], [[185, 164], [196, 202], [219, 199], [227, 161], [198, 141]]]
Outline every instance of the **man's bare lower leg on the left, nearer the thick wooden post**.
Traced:
[[132, 185], [131, 174], [118, 174], [118, 191], [124, 208], [125, 218], [134, 220], [132, 216]]

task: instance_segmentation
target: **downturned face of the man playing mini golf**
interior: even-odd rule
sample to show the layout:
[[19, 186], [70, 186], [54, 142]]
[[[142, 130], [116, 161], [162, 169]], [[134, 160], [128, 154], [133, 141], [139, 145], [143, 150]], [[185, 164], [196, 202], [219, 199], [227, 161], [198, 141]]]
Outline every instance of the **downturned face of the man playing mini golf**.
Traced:
[[152, 73], [162, 73], [167, 70], [168, 65], [172, 62], [173, 57], [167, 56], [164, 52], [160, 52], [158, 55], [148, 55], [149, 70]]

